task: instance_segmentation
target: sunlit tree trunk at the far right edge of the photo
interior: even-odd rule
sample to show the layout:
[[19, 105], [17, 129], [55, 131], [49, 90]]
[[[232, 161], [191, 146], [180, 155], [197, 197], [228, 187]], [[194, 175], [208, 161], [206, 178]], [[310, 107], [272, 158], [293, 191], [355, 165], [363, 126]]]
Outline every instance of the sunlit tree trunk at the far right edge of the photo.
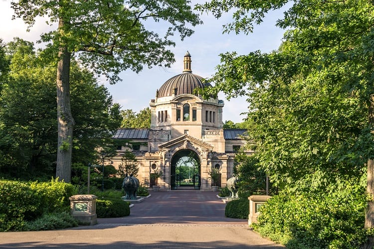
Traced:
[[[374, 125], [374, 95], [372, 95], [369, 104], [369, 125], [373, 127]], [[368, 160], [368, 183], [367, 192], [370, 196], [368, 201], [368, 206], [366, 208], [365, 214], [365, 229], [374, 228], [374, 159]], [[368, 241], [361, 247], [363, 249], [373, 249], [374, 248], [374, 237], [370, 236]]]

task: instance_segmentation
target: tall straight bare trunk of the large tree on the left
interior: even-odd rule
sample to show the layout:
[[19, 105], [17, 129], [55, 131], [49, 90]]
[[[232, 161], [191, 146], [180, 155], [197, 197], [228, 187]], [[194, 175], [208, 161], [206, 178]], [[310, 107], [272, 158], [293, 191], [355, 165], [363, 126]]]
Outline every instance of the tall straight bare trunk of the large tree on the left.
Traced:
[[[64, 21], [60, 18], [58, 27], [62, 32]], [[58, 122], [58, 142], [57, 142], [57, 165], [56, 178], [59, 181], [69, 183], [71, 180], [71, 153], [74, 119], [70, 109], [70, 52], [67, 46], [61, 42], [58, 51], [57, 64], [57, 122]]]

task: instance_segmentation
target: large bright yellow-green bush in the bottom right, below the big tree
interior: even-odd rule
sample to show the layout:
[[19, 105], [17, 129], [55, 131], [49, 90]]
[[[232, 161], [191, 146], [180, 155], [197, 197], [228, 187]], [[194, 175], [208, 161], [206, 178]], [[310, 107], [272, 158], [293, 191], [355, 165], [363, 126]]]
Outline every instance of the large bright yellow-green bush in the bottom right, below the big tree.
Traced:
[[331, 193], [273, 196], [260, 208], [254, 229], [287, 248], [359, 248], [366, 240], [365, 193], [350, 190]]

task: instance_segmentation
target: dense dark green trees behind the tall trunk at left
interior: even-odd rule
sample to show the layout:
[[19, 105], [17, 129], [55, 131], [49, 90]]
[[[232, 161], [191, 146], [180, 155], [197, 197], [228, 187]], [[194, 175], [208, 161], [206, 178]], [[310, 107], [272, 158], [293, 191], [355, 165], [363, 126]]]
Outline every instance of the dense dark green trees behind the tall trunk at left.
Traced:
[[[6, 44], [8, 77], [0, 94], [0, 170], [12, 177], [50, 178], [56, 160], [55, 64], [45, 63], [31, 42], [15, 38]], [[73, 61], [71, 66], [72, 110], [76, 130], [73, 162], [88, 165], [97, 146], [108, 144], [117, 129], [118, 104], [99, 85], [92, 72]], [[29, 178], [28, 178], [29, 179]]]

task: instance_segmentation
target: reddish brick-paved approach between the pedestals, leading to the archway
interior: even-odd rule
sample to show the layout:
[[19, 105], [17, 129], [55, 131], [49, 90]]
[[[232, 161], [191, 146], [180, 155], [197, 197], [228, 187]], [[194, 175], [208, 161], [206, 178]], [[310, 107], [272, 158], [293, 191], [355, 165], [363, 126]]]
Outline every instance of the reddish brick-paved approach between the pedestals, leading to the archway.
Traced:
[[98, 219], [100, 224], [238, 224], [248, 225], [248, 220], [224, 216], [225, 204], [217, 192], [159, 191], [134, 204], [130, 216]]

